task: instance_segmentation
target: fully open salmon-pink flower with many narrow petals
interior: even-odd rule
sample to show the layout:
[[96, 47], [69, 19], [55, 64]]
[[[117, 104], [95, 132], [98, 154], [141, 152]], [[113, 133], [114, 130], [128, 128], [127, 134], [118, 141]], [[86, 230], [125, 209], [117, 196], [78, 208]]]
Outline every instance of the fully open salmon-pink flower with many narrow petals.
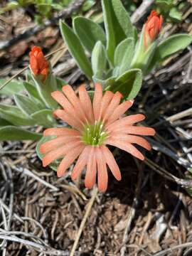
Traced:
[[121, 179], [119, 167], [107, 144], [117, 146], [141, 160], [144, 156], [133, 144], [151, 149], [149, 142], [138, 135], [153, 136], [154, 129], [134, 126], [145, 118], [143, 114], [122, 117], [132, 107], [133, 100], [120, 103], [122, 95], [119, 92], [106, 91], [102, 95], [102, 86], [96, 84], [91, 102], [84, 85], [79, 87], [78, 96], [70, 85], [65, 85], [63, 93], [52, 92], [52, 97], [63, 107], [63, 110], [55, 110], [55, 116], [73, 127], [49, 128], [43, 133], [45, 137], [53, 136], [40, 146], [41, 154], [44, 154], [43, 166], [63, 158], [58, 166], [58, 177], [63, 176], [78, 158], [71, 177], [78, 178], [87, 166], [85, 186], [92, 188], [97, 177], [99, 190], [106, 191], [107, 166], [118, 181]]

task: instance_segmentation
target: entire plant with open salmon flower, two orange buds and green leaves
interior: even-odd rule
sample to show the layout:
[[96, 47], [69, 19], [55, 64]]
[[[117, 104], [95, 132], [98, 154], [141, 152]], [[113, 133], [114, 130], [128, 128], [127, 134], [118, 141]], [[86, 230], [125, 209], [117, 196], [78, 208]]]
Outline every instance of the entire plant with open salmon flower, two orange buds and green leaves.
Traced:
[[[14, 100], [14, 105], [0, 104], [0, 138], [40, 139], [36, 152], [43, 166], [50, 165], [60, 177], [78, 159], [72, 178], [78, 178], [87, 166], [85, 186], [92, 188], [97, 176], [99, 190], [106, 191], [107, 166], [117, 180], [121, 179], [107, 145], [140, 160], [144, 160], [144, 155], [133, 144], [151, 149], [149, 142], [140, 136], [154, 136], [154, 129], [134, 125], [144, 115], [123, 116], [132, 107], [144, 75], [186, 48], [192, 37], [181, 33], [164, 38], [163, 17], [156, 11], [151, 11], [138, 35], [119, 0], [102, 0], [102, 11], [105, 31], [94, 21], [80, 16], [73, 19], [73, 29], [60, 21], [68, 50], [94, 83], [95, 91], [89, 95], [81, 85], [76, 93], [53, 75], [41, 48], [33, 46], [26, 80], [12, 80], [0, 90]], [[37, 126], [47, 129], [39, 134], [35, 132]]]

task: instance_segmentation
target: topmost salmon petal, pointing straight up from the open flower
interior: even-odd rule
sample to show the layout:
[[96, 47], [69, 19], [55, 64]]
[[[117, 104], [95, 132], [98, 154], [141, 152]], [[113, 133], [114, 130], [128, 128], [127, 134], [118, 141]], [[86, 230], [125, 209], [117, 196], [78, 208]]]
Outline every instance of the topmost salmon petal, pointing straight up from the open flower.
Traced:
[[95, 93], [94, 93], [93, 102], [92, 102], [92, 108], [93, 108], [95, 120], [99, 119], [101, 102], [102, 102], [102, 85], [97, 83], [95, 84]]

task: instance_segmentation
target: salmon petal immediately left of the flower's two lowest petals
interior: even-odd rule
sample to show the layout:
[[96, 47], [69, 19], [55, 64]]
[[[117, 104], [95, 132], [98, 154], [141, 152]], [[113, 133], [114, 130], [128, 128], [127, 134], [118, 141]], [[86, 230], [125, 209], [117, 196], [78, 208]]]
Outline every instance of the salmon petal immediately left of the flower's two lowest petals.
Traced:
[[75, 167], [73, 168], [71, 178], [75, 180], [80, 176], [82, 170], [85, 168], [85, 165], [87, 164], [87, 159], [89, 156], [91, 146], [85, 146], [85, 149], [83, 149], [82, 153], [80, 154], [80, 157], [78, 158], [77, 163], [75, 164]]

